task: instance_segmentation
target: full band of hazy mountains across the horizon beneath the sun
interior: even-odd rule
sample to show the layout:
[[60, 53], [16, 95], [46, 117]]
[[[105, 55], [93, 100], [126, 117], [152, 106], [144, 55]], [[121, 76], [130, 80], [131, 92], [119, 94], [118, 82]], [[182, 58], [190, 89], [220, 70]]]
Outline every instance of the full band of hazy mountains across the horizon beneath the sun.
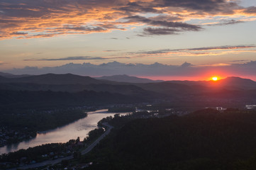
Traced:
[[139, 101], [165, 101], [179, 106], [220, 106], [222, 103], [244, 106], [247, 103], [256, 103], [256, 82], [240, 77], [228, 77], [219, 81], [157, 82], [128, 75], [97, 79], [74, 74], [42, 74], [13, 78], [8, 74], [5, 77], [1, 75], [1, 91], [107, 92], [121, 94], [123, 99], [127, 97], [140, 98]]

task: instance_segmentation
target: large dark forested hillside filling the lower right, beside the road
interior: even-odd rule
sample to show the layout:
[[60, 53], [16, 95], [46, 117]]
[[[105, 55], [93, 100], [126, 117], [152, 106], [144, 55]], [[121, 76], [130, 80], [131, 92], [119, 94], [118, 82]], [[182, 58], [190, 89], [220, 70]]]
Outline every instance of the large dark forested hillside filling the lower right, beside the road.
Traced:
[[255, 151], [256, 112], [207, 109], [131, 120], [81, 162], [93, 162], [88, 169], [111, 170], [256, 169]]

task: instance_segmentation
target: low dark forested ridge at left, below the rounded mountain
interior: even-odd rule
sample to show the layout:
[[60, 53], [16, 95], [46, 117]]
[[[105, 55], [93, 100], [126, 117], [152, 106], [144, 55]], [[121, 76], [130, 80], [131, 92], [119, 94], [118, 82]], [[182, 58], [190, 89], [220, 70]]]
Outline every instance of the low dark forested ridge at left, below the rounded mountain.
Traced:
[[[37, 108], [51, 106], [102, 106], [112, 103], [136, 103], [142, 98], [123, 94], [111, 94], [106, 91], [80, 91], [68, 93], [63, 91], [1, 91], [0, 111], [12, 108]], [[144, 99], [145, 100], [145, 99]]]

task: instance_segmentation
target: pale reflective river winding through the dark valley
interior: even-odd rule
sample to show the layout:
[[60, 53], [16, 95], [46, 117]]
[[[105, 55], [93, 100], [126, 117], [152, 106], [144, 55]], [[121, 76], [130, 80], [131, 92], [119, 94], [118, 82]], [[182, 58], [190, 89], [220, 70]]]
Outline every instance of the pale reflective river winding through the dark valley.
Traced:
[[[116, 113], [108, 113], [107, 109], [88, 112], [86, 118], [79, 119], [54, 130], [40, 132], [31, 140], [0, 147], [0, 154], [15, 152], [19, 149], [28, 149], [28, 147], [35, 147], [48, 143], [68, 142], [71, 139], [77, 139], [77, 137], [80, 137], [80, 140], [84, 140], [84, 137], [87, 137], [89, 131], [97, 128], [99, 120], [115, 114]], [[127, 113], [121, 113], [121, 115], [126, 114]]]

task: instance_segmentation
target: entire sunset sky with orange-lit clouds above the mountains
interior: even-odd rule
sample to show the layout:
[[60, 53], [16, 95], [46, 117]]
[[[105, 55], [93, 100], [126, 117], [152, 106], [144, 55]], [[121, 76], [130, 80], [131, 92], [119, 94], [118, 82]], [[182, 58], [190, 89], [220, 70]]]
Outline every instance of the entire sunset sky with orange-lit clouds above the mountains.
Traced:
[[0, 72], [256, 80], [255, 0], [1, 0]]

